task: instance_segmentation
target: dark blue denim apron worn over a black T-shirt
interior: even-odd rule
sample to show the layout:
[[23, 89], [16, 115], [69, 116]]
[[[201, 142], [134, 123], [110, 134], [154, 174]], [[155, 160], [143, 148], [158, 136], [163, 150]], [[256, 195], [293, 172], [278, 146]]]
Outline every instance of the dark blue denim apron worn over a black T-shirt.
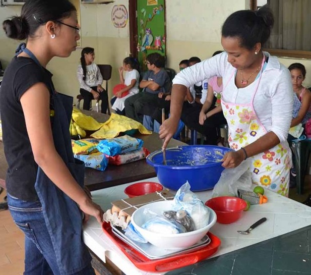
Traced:
[[[21, 50], [41, 67], [29, 49], [22, 47]], [[52, 82], [50, 87], [53, 91], [54, 115], [51, 117], [51, 122], [54, 145], [73, 177], [83, 187], [84, 162], [74, 158], [69, 133], [73, 97], [56, 93]], [[61, 191], [40, 167], [38, 167], [35, 189], [42, 204], [59, 273], [72, 274], [90, 265], [91, 256], [83, 242], [82, 212], [77, 203]]]

